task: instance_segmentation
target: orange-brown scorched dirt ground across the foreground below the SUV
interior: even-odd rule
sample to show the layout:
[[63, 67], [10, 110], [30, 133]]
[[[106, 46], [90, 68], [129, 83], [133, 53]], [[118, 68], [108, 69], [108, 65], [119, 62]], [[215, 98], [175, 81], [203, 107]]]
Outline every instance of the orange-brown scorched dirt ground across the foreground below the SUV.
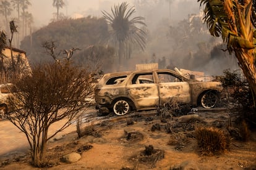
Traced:
[[[228, 111], [198, 111], [200, 119], [180, 123], [178, 118], [140, 116], [140, 113], [92, 127], [90, 135], [80, 139], [69, 132], [49, 142], [47, 169], [256, 169], [256, 132], [248, 142], [231, 139], [229, 149], [221, 155], [205, 156], [199, 152], [194, 130], [199, 126], [225, 129], [232, 114]], [[153, 156], [145, 148], [153, 147]], [[62, 163], [61, 156], [81, 153], [76, 163]], [[30, 166], [28, 153], [0, 156], [0, 169], [39, 169]]]

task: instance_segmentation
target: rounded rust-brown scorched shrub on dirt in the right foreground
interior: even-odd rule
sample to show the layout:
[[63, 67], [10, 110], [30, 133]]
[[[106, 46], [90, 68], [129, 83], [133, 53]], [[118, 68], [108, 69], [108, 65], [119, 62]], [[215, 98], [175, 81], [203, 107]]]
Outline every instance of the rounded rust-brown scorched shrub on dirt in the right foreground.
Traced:
[[220, 155], [229, 148], [229, 136], [215, 127], [198, 127], [195, 138], [202, 155]]

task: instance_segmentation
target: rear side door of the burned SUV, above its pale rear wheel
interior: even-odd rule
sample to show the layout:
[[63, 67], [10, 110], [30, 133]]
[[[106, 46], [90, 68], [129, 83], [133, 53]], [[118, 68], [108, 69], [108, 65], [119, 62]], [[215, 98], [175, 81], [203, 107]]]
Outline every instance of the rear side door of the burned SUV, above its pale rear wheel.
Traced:
[[127, 84], [127, 94], [137, 109], [155, 108], [159, 104], [158, 84], [153, 73], [135, 73]]

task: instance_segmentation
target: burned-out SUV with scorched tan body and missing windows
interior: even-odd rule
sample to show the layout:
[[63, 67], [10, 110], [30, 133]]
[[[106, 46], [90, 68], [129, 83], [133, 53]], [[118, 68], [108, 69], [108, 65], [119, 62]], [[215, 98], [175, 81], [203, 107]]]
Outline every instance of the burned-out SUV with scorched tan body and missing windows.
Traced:
[[155, 109], [176, 99], [179, 103], [213, 108], [223, 90], [220, 82], [187, 79], [173, 70], [107, 73], [95, 89], [101, 111], [125, 115], [131, 110]]

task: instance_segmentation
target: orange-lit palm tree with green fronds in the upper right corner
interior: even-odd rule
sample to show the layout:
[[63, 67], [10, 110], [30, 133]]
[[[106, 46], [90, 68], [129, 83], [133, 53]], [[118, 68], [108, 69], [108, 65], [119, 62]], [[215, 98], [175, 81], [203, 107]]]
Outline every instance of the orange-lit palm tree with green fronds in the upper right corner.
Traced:
[[228, 51], [234, 52], [239, 67], [256, 94], [255, 1], [197, 1], [204, 7], [204, 20], [211, 35], [221, 36], [227, 44]]

